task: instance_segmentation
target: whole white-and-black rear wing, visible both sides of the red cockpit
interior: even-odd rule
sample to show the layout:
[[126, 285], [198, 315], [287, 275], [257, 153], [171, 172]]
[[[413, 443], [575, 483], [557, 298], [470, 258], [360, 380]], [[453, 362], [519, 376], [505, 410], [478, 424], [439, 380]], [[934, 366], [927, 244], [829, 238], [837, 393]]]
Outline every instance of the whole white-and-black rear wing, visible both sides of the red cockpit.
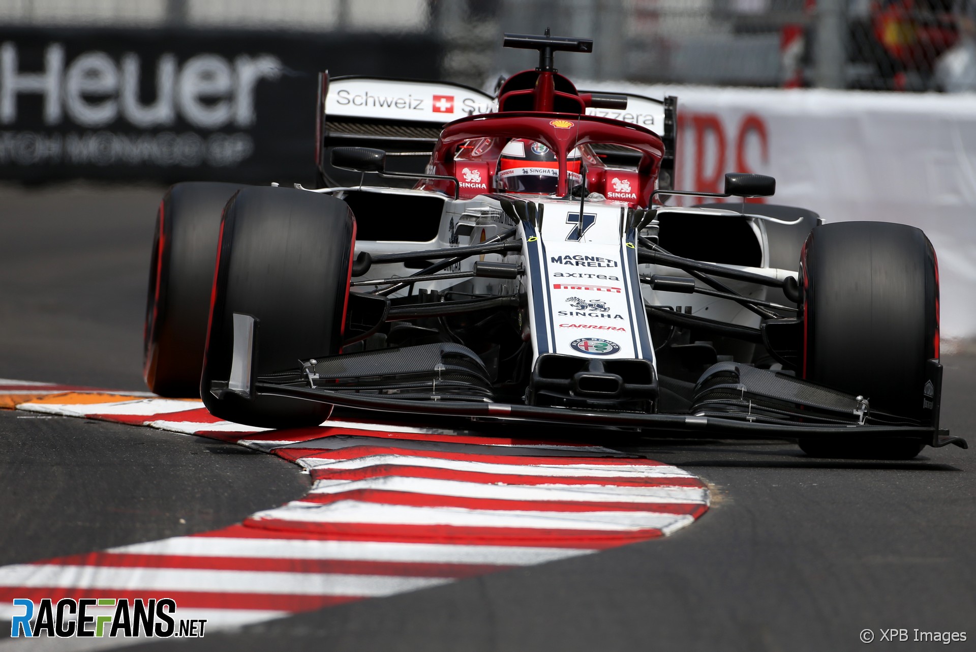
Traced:
[[[590, 91], [581, 91], [581, 96]], [[589, 115], [623, 120], [661, 136], [665, 157], [658, 186], [673, 189], [676, 154], [677, 98], [655, 100], [631, 93], [627, 108], [587, 109]], [[354, 185], [360, 175], [335, 168], [331, 151], [338, 146], [378, 147], [386, 150], [390, 172], [423, 174], [441, 130], [458, 118], [498, 110], [496, 98], [475, 88], [451, 82], [383, 77], [329, 78], [319, 73], [315, 125], [315, 164], [324, 185]], [[608, 165], [632, 167], [639, 154], [626, 147], [596, 146]], [[370, 183], [379, 183], [371, 179]], [[398, 184], [384, 179], [383, 183]], [[413, 185], [413, 181], [399, 184]]]

